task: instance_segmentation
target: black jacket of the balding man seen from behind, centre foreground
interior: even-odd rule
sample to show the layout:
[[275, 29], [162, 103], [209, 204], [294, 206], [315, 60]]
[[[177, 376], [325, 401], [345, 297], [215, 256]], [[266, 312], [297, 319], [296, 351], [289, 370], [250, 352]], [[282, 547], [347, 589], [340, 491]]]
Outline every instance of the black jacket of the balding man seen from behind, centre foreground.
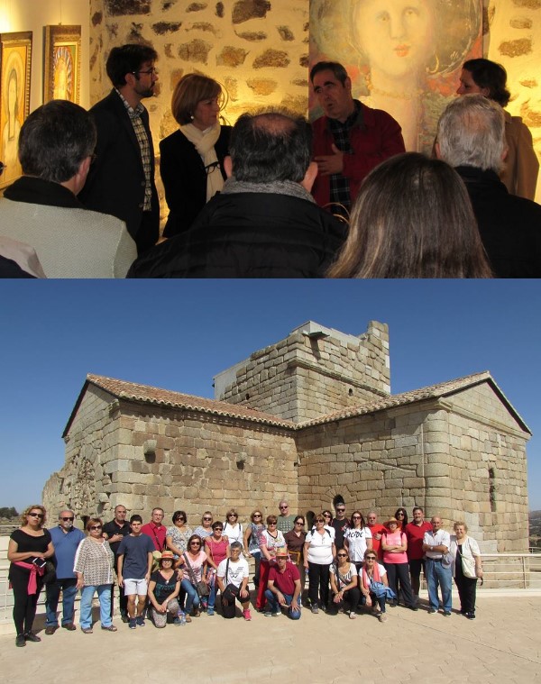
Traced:
[[298, 196], [221, 194], [128, 278], [323, 278], [345, 235], [344, 223]]

